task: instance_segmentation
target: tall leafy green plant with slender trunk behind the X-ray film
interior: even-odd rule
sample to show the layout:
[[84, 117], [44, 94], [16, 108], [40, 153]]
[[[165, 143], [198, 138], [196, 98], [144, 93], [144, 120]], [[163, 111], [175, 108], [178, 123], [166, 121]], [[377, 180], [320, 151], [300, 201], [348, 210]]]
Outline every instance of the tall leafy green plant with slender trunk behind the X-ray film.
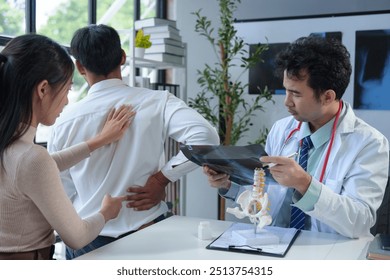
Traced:
[[[193, 13], [196, 16], [195, 31], [208, 40], [217, 62], [214, 65], [206, 63], [203, 70], [197, 71], [201, 91], [195, 98], [190, 98], [188, 104], [218, 128], [221, 145], [235, 145], [249, 130], [255, 112], [264, 111], [265, 102], [274, 102], [267, 87], [259, 89], [259, 94], [251, 102], [246, 101], [243, 95], [249, 85], [240, 80], [250, 67], [261, 61], [261, 54], [268, 45], [259, 44], [250, 55], [248, 44], [237, 36], [234, 27], [233, 12], [241, 1], [218, 2], [221, 23], [218, 32], [211, 21], [201, 15], [201, 9]], [[238, 65], [241, 71], [234, 77], [230, 70]], [[265, 134], [261, 133], [262, 139], [256, 142], [264, 142]], [[220, 199], [219, 204], [219, 218], [223, 220], [224, 200]]]

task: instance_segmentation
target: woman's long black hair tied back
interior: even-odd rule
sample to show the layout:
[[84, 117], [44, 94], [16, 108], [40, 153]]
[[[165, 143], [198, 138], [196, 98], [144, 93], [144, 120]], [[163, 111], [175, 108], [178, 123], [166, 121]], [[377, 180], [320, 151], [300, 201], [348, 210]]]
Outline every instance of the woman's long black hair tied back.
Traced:
[[[47, 80], [58, 89], [72, 77], [74, 64], [58, 43], [38, 34], [12, 39], [0, 53], [0, 159], [26, 133], [32, 120], [33, 92]], [[58, 92], [54, 90], [53, 92]]]

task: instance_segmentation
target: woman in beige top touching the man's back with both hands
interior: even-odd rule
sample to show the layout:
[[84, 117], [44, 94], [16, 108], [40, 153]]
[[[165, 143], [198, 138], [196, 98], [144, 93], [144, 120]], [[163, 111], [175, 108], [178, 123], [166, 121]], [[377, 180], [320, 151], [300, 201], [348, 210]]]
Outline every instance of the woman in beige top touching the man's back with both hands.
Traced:
[[81, 219], [59, 171], [119, 140], [134, 115], [129, 106], [107, 109], [101, 132], [65, 151], [49, 155], [34, 144], [38, 124], [54, 124], [67, 104], [73, 71], [66, 50], [42, 35], [16, 37], [0, 53], [0, 259], [51, 259], [54, 230], [68, 246], [81, 248], [117, 217], [126, 199], [106, 195], [98, 213]]

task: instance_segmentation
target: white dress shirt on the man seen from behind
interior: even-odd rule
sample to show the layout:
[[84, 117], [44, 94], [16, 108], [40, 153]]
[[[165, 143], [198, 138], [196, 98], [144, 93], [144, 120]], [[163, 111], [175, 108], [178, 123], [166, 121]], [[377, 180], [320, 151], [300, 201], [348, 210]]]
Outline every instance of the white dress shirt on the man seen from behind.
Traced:
[[[109, 110], [125, 103], [134, 107], [136, 115], [123, 138], [61, 173], [65, 190], [83, 218], [100, 209], [106, 193], [124, 195], [128, 187], [144, 186], [160, 170], [172, 182], [194, 170], [197, 165], [181, 152], [165, 162], [164, 143], [169, 137], [187, 145], [219, 144], [216, 130], [181, 99], [167, 91], [129, 87], [120, 79], [110, 79], [94, 84], [84, 99], [65, 108], [52, 129], [49, 152], [95, 136]], [[146, 211], [123, 207], [101, 235], [117, 237], [136, 230], [166, 211], [165, 202]]]

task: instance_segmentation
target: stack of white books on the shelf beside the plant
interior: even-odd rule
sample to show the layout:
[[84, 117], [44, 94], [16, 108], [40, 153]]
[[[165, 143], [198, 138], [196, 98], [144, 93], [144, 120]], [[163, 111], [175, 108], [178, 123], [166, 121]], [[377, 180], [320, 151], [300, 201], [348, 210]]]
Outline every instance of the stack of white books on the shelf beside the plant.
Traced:
[[134, 22], [134, 29], [150, 34], [152, 46], [145, 50], [145, 59], [183, 65], [185, 48], [176, 21], [146, 18]]

